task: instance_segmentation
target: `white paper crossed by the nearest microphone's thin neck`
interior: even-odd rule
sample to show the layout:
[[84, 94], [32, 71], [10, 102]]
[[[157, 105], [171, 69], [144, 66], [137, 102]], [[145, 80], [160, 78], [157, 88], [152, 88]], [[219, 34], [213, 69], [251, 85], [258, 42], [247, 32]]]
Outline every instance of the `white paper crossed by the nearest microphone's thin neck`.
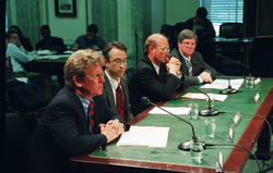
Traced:
[[[174, 114], [188, 114], [190, 112], [190, 108], [188, 107], [162, 107], [163, 109], [169, 111]], [[159, 108], [155, 107], [149, 113], [151, 114], [168, 114], [167, 112], [161, 110]]]

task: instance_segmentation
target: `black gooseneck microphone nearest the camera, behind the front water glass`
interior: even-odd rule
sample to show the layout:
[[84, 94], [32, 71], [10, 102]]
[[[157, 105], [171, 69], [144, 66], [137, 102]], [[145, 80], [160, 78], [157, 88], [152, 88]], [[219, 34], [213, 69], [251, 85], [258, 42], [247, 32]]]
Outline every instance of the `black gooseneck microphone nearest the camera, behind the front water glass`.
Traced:
[[[177, 118], [177, 119], [179, 119], [179, 120], [181, 120], [181, 121], [188, 123], [188, 124], [191, 126], [191, 129], [192, 129], [192, 135], [193, 135], [193, 136], [192, 136], [192, 139], [198, 139], [198, 137], [195, 136], [195, 133], [194, 133], [194, 128], [193, 128], [193, 126], [192, 126], [192, 124], [191, 124], [190, 122], [188, 122], [188, 121], [186, 121], [186, 120], [183, 120], [183, 119], [181, 119], [181, 118], [179, 118], [179, 116], [173, 114], [171, 112], [169, 112], [169, 111], [167, 111], [167, 110], [165, 110], [165, 109], [163, 109], [163, 108], [156, 106], [155, 103], [153, 103], [152, 101], [150, 101], [150, 99], [149, 99], [147, 97], [145, 97], [145, 96], [143, 96], [143, 97], [141, 98], [141, 101], [142, 101], [144, 104], [152, 104], [152, 106], [155, 106], [156, 108], [158, 108], [158, 109], [161, 109], [161, 110], [167, 112], [168, 114], [170, 114], [170, 115], [173, 115], [173, 116], [175, 116], [175, 118]], [[181, 149], [181, 150], [190, 150], [190, 144], [191, 144], [190, 140], [183, 141], [183, 143], [181, 143], [181, 144], [178, 146], [178, 149]], [[205, 143], [203, 143], [203, 147], [205, 147]]]

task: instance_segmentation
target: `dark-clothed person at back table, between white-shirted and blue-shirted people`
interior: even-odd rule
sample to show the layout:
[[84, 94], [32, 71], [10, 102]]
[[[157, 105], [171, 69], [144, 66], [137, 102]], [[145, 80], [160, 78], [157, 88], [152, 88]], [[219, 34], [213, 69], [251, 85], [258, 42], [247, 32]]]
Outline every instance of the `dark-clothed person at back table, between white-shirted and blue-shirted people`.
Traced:
[[67, 46], [63, 44], [62, 38], [50, 36], [50, 28], [48, 25], [43, 25], [40, 27], [40, 35], [43, 39], [38, 41], [35, 46], [36, 50], [51, 50], [51, 51], [66, 51]]

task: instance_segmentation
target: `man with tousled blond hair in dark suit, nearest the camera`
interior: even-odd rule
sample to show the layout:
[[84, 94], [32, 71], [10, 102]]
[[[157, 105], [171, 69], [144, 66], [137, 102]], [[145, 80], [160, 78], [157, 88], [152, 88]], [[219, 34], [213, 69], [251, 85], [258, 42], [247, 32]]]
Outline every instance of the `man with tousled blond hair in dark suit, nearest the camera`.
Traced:
[[81, 172], [71, 168], [71, 157], [91, 153], [129, 128], [105, 103], [103, 66], [104, 57], [90, 49], [68, 59], [63, 69], [66, 86], [49, 102], [34, 136], [37, 172]]

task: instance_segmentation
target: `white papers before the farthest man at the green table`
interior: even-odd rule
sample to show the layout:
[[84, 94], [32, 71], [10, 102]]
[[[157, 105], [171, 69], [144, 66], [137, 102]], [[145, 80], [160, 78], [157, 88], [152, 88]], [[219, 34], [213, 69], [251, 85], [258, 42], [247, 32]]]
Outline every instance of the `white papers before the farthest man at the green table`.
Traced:
[[[230, 85], [235, 89], [239, 89], [244, 83], [244, 78], [229, 79]], [[225, 89], [228, 87], [228, 79], [215, 79], [212, 84], [205, 84], [201, 88], [214, 88], [214, 89]]]

